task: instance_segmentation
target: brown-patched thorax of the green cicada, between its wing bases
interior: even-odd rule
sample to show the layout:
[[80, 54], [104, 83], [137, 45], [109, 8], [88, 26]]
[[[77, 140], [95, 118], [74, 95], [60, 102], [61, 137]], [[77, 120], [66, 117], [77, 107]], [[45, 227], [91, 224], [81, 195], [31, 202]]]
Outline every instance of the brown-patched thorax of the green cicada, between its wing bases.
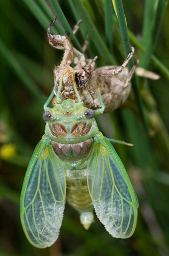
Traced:
[[[66, 113], [68, 115], [69, 113]], [[70, 114], [69, 114], [70, 115]], [[72, 139], [80, 140], [88, 138], [92, 127], [92, 122], [85, 120], [79, 122], [63, 122], [51, 123], [49, 128], [51, 134], [55, 137], [55, 141], [51, 140], [55, 154], [64, 162], [67, 169], [82, 168], [87, 165], [87, 160], [93, 145], [93, 138], [81, 141], [79, 143], [71, 143]], [[64, 138], [69, 137], [69, 144], [64, 143]], [[60, 138], [62, 143], [57, 142]], [[66, 140], [65, 140], [66, 141]]]

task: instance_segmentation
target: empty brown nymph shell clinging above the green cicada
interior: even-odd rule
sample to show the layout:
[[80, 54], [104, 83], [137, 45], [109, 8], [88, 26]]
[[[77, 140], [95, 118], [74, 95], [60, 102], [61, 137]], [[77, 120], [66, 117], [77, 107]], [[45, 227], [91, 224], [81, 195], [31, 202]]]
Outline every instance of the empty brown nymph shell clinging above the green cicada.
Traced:
[[[69, 69], [75, 77], [77, 87], [79, 87], [78, 92], [87, 108], [93, 110], [101, 108], [97, 89], [98, 82], [100, 83], [101, 96], [105, 105], [104, 112], [111, 112], [119, 108], [131, 91], [130, 79], [136, 66], [133, 66], [129, 73], [126, 65], [133, 56], [134, 48], [131, 49], [131, 53], [121, 67], [106, 66], [95, 69], [94, 60], [97, 59], [97, 56], [93, 60], [86, 59], [82, 53], [71, 45], [70, 39], [67, 36], [50, 34], [53, 23], [54, 20], [49, 25], [47, 31], [49, 44], [54, 48], [65, 50], [60, 66], [53, 69], [55, 91], [58, 91], [60, 77]], [[75, 57], [74, 61], [73, 56]], [[70, 66], [72, 62], [76, 63], [74, 68]], [[61, 98], [75, 99], [76, 97], [71, 75], [67, 73], [63, 78]]]

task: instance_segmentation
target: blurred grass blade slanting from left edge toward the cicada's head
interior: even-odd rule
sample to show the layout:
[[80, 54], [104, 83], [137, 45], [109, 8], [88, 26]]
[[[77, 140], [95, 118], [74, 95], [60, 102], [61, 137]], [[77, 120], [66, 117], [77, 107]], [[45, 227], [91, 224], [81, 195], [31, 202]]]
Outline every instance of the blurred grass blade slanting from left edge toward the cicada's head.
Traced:
[[13, 72], [17, 75], [17, 77], [25, 84], [26, 88], [32, 92], [32, 94], [42, 103], [44, 103], [44, 99], [42, 98], [41, 91], [37, 88], [34, 81], [31, 79], [29, 75], [24, 71], [20, 63], [13, 56], [10, 50], [4, 45], [3, 41], [0, 39], [0, 52], [4, 56], [5, 60], [8, 62], [9, 66], [13, 70]]

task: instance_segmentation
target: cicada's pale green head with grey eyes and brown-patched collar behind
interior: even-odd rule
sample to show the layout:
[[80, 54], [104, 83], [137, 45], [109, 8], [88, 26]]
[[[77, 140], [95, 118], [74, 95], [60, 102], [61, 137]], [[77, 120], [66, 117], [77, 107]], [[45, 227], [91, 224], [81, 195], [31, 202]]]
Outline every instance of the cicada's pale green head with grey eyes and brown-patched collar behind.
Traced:
[[64, 100], [43, 114], [45, 134], [62, 144], [75, 144], [93, 138], [98, 132], [95, 111], [80, 102]]

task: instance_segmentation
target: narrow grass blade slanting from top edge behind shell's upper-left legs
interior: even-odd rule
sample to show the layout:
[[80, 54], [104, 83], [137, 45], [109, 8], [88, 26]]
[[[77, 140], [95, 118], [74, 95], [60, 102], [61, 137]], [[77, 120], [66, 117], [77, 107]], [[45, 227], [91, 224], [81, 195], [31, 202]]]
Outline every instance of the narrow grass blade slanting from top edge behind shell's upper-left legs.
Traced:
[[57, 0], [49, 0], [49, 1], [50, 1], [51, 6], [53, 7], [53, 10], [54, 10], [55, 14], [60, 19], [60, 22], [61, 22], [64, 30], [67, 31], [68, 34], [71, 36], [71, 40], [74, 43], [74, 45], [77, 47], [77, 49], [80, 50], [81, 52], [83, 52], [77, 38], [75, 37], [71, 27], [69, 26], [69, 23], [67, 22], [67, 19], [66, 19], [64, 13], [63, 13], [58, 1]]

